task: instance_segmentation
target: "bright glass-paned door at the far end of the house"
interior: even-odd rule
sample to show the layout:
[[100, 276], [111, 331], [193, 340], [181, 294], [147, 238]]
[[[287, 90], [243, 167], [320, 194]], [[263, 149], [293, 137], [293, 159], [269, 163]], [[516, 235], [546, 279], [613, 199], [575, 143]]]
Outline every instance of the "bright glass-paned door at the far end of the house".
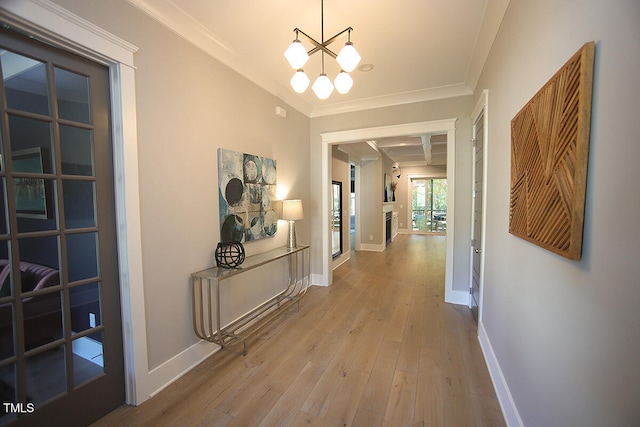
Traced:
[[447, 180], [411, 178], [411, 222], [414, 232], [447, 229]]

